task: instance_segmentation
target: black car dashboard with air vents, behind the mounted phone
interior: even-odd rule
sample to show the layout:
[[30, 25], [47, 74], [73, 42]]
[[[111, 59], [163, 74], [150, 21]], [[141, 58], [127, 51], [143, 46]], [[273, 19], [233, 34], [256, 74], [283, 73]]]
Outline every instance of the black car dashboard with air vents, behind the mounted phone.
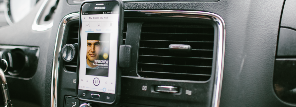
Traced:
[[[78, 43], [83, 0], [31, 1], [29, 11], [16, 11], [27, 2], [0, 1], [0, 56], [15, 58], [4, 72], [12, 104], [93, 103], [76, 97], [77, 61], [61, 54], [66, 44]], [[131, 60], [120, 68], [119, 103], [97, 106], [296, 106], [295, 1], [123, 2], [122, 41], [132, 48]], [[23, 17], [15, 15], [22, 11]], [[174, 54], [171, 44], [192, 49]]]

